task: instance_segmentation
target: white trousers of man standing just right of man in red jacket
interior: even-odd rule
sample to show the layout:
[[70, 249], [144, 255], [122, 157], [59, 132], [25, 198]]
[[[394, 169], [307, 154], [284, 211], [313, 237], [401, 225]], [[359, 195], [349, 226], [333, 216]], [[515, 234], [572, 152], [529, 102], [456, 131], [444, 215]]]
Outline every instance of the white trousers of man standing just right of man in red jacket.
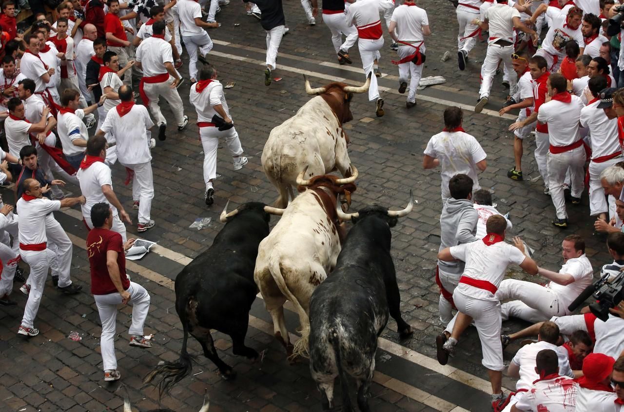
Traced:
[[557, 211], [557, 218], [565, 219], [568, 213], [565, 210], [565, 197], [563, 196], [563, 182], [565, 174], [570, 172], [570, 194], [572, 197], [581, 197], [585, 185], [583, 184], [583, 166], [585, 165], [585, 149], [577, 147], [567, 152], [552, 154], [548, 152], [548, 189], [552, 204]]

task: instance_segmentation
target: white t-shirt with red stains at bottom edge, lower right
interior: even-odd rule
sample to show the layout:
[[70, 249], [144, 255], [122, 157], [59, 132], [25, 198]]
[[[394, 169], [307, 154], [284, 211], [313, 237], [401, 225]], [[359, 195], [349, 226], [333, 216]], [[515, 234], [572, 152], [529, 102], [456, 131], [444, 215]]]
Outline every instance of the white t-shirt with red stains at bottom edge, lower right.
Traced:
[[515, 407], [520, 411], [576, 412], [578, 383], [567, 376], [540, 380], [522, 393]]

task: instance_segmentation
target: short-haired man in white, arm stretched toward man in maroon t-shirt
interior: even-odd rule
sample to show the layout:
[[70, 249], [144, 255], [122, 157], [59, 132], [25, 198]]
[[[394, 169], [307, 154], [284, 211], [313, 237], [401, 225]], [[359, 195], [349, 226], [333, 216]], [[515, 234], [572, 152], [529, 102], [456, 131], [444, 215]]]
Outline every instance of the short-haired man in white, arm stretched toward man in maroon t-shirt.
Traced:
[[[84, 202], [84, 196], [67, 197], [61, 201], [49, 200], [43, 197], [41, 185], [37, 180], [24, 180], [24, 194], [21, 199], [17, 200], [17, 208], [19, 210], [17, 222], [19, 224], [20, 254], [22, 260], [31, 268], [31, 274], [29, 275], [31, 290], [28, 294], [26, 307], [24, 307], [24, 317], [21, 325], [19, 325], [19, 330], [17, 330], [19, 335], [36, 336], [39, 334], [39, 330], [34, 328], [33, 322], [37, 316], [37, 310], [39, 310], [39, 303], [41, 303], [47, 270], [54, 258], [54, 252], [47, 248], [47, 220], [56, 222], [54, 215], [51, 213], [54, 210], [60, 210], [61, 207], [72, 207], [78, 203], [84, 204]], [[71, 283], [69, 273], [67, 275], [67, 279], [64, 279], [64, 282], [69, 283], [61, 286], [61, 279], [59, 279], [59, 289], [70, 294], [79, 292], [82, 287]]]

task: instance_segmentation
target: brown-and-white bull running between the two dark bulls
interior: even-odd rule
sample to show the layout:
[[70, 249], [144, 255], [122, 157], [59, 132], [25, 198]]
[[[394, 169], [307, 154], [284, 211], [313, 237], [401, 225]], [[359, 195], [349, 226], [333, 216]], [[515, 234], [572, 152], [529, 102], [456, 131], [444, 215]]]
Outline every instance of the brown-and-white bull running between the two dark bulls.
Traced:
[[358, 169], [339, 179], [321, 175], [310, 180], [300, 173], [296, 183], [305, 189], [284, 210], [271, 233], [260, 242], [253, 279], [260, 289], [266, 310], [273, 319], [275, 337], [288, 355], [293, 354], [284, 320], [283, 305], [290, 300], [301, 324], [301, 340], [294, 348], [296, 355], [306, 355], [310, 332], [308, 306], [310, 296], [336, 265], [343, 237], [339, 227], [336, 202], [343, 195], [351, 202]]

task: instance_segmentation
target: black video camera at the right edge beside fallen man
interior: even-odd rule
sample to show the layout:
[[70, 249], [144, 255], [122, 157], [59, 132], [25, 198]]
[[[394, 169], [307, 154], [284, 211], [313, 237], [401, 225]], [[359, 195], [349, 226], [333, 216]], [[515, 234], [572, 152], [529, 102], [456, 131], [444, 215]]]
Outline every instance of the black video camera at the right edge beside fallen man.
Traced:
[[568, 310], [575, 310], [588, 297], [593, 295], [597, 302], [590, 303], [589, 309], [598, 319], [606, 322], [609, 318], [609, 309], [617, 307], [624, 298], [622, 294], [624, 289], [624, 272], [620, 269], [620, 273], [612, 282], [608, 282], [610, 275], [611, 273], [605, 273], [600, 279], [585, 288], [574, 302], [570, 303]]

